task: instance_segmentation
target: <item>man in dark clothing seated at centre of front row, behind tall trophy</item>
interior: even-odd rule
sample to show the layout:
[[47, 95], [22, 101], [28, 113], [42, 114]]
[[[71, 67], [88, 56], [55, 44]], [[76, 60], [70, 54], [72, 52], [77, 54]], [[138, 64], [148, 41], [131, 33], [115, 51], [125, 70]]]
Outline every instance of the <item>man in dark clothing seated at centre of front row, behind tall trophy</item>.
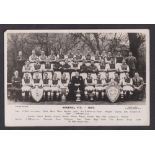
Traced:
[[71, 79], [71, 84], [69, 85], [69, 98], [76, 99], [77, 91], [79, 90], [81, 98], [84, 97], [84, 80], [80, 76], [79, 72], [76, 71], [75, 76]]

